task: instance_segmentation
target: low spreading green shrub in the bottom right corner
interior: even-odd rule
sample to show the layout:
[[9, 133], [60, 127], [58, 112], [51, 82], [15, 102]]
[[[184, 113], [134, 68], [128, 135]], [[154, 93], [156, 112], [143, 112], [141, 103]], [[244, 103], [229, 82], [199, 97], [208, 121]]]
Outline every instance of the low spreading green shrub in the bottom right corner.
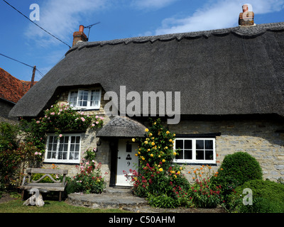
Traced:
[[[243, 190], [249, 188], [253, 194], [253, 204], [244, 205]], [[283, 213], [284, 185], [269, 180], [254, 179], [236, 188], [231, 195], [230, 211], [241, 213]]]

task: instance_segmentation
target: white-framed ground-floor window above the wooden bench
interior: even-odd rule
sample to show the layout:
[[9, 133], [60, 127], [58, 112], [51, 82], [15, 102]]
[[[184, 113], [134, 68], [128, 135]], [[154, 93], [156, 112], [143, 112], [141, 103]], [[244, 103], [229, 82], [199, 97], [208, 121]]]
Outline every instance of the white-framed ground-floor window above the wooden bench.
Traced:
[[48, 135], [44, 161], [79, 163], [80, 147], [80, 134]]

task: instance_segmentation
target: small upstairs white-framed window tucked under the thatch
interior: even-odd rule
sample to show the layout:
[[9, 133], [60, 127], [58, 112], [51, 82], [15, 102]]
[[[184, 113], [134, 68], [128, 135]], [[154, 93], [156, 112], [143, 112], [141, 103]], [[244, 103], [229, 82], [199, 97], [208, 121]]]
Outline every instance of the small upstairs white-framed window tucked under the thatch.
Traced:
[[75, 109], [99, 109], [101, 89], [78, 89], [70, 91], [68, 102]]

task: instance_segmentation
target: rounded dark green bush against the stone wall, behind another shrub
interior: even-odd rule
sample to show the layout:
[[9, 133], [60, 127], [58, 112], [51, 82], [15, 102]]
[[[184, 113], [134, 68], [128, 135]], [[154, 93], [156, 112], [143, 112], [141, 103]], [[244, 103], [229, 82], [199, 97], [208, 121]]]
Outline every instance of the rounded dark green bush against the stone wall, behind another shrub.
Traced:
[[256, 158], [248, 153], [237, 152], [232, 155], [226, 155], [220, 167], [218, 178], [222, 180], [225, 177], [235, 179], [238, 184], [244, 184], [251, 179], [262, 179], [261, 165]]

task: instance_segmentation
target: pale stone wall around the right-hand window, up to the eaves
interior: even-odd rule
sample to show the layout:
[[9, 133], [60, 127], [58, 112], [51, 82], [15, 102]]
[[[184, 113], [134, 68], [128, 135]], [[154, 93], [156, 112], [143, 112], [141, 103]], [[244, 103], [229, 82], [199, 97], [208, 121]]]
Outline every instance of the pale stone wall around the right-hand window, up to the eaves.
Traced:
[[[284, 178], [284, 133], [283, 121], [241, 119], [225, 121], [181, 121], [178, 125], [170, 125], [170, 131], [177, 134], [221, 133], [216, 137], [217, 166], [219, 169], [225, 155], [238, 151], [246, 152], [256, 157], [263, 170], [263, 179], [277, 180]], [[184, 173], [191, 167], [187, 165]]]

